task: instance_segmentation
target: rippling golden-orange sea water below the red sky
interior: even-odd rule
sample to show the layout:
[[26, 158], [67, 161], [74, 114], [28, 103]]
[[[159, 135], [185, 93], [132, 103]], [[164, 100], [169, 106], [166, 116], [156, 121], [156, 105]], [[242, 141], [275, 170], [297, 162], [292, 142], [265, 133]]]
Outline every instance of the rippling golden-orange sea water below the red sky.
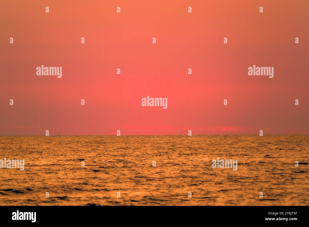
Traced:
[[0, 169], [0, 205], [309, 205], [308, 135], [2, 136], [4, 158], [25, 169]]

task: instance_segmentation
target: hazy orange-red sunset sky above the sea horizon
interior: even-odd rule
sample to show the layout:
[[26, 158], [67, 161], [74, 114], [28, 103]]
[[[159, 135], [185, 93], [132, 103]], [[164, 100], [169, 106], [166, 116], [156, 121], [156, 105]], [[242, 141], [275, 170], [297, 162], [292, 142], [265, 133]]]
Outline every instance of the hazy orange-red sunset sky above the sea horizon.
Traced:
[[309, 134], [309, 1], [258, 2], [2, 0], [0, 135]]

